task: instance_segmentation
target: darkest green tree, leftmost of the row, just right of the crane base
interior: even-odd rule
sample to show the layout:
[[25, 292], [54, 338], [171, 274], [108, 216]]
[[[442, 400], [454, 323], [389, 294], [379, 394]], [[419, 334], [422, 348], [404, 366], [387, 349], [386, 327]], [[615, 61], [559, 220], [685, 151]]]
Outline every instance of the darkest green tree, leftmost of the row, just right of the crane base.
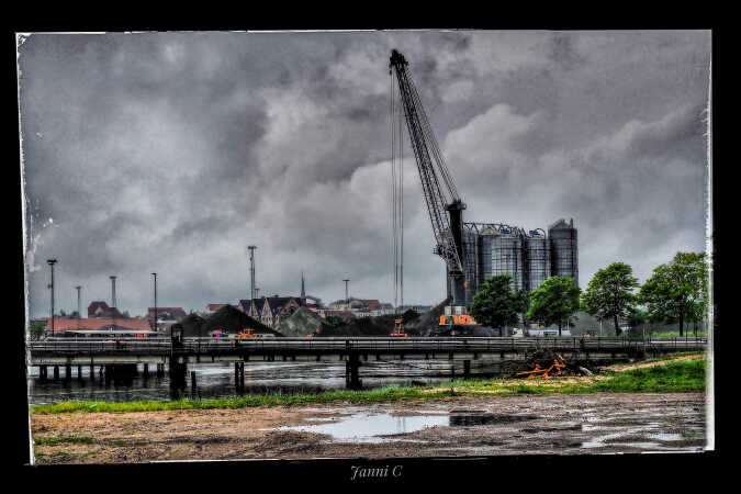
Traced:
[[498, 274], [486, 280], [473, 297], [471, 315], [479, 324], [498, 327], [502, 336], [504, 326], [517, 324], [517, 315], [525, 312], [526, 304], [527, 295], [521, 290], [512, 291], [512, 277]]

